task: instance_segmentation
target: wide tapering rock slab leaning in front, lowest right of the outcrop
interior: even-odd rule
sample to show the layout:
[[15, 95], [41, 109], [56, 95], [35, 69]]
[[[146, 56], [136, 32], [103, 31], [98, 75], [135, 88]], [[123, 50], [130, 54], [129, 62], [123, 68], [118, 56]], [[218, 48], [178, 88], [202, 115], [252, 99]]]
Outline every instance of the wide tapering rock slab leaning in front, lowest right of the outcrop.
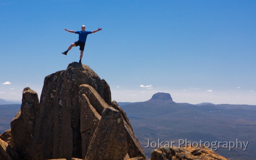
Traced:
[[126, 132], [120, 112], [107, 107], [92, 137], [86, 160], [123, 160], [127, 154]]

